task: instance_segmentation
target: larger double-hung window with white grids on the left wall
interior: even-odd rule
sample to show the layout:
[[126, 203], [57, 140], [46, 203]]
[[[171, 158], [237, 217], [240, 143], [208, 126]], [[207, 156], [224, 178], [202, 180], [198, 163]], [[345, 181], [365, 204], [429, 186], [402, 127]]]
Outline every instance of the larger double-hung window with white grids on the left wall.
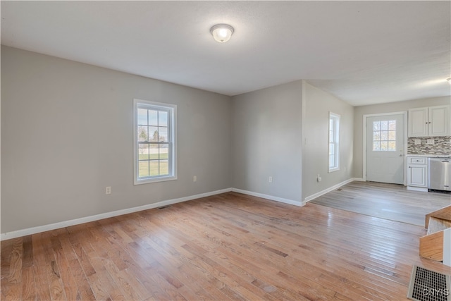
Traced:
[[177, 106], [133, 101], [136, 184], [175, 180]]

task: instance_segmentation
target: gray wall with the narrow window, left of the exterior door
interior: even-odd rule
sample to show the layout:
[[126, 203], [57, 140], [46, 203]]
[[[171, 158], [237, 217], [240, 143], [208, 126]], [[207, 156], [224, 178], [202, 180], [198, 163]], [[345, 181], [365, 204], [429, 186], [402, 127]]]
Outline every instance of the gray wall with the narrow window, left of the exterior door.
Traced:
[[[354, 107], [304, 82], [302, 199], [353, 178]], [[340, 115], [340, 170], [328, 172], [329, 112]], [[321, 176], [321, 182], [317, 176]]]

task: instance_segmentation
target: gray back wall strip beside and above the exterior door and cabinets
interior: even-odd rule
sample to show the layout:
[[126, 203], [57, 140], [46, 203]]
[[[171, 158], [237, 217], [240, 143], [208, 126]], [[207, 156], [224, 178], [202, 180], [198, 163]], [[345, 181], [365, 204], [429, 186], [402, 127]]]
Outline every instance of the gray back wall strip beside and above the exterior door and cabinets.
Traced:
[[[363, 118], [364, 115], [377, 113], [394, 113], [425, 106], [440, 106], [451, 104], [451, 97], [434, 97], [414, 99], [405, 102], [389, 104], [374, 104], [371, 106], [356, 106], [354, 108], [354, 177], [363, 178]], [[407, 129], [406, 129], [407, 130]]]

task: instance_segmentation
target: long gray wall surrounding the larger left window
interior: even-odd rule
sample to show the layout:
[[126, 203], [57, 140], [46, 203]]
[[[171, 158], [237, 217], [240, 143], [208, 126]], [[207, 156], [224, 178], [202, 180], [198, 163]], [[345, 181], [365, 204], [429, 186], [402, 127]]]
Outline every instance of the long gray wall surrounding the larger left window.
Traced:
[[[178, 180], [133, 185], [133, 98], [178, 105]], [[2, 233], [230, 188], [230, 97], [2, 46], [1, 163]]]

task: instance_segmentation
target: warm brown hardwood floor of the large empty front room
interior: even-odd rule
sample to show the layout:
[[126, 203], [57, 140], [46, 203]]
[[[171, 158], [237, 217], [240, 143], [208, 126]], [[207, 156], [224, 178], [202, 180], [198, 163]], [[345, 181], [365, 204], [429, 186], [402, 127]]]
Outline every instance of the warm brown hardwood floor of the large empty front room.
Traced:
[[420, 226], [228, 192], [1, 242], [2, 300], [405, 300]]

